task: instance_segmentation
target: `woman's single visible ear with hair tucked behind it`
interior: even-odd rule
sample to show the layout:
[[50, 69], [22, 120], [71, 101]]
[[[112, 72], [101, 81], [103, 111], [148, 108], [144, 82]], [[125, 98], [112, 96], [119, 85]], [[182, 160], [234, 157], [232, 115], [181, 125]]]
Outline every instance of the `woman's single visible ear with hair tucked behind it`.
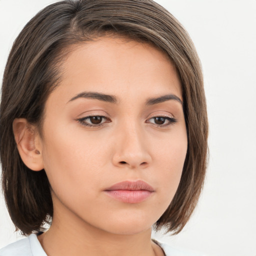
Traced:
[[25, 118], [15, 118], [12, 129], [24, 164], [31, 170], [43, 169], [41, 138], [36, 132], [36, 127]]

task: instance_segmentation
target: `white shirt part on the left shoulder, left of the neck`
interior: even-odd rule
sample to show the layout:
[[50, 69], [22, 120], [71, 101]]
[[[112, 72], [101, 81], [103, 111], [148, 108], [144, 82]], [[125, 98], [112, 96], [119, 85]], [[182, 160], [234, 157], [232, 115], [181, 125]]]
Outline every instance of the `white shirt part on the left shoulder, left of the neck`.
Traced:
[[47, 256], [35, 234], [0, 249], [0, 256]]

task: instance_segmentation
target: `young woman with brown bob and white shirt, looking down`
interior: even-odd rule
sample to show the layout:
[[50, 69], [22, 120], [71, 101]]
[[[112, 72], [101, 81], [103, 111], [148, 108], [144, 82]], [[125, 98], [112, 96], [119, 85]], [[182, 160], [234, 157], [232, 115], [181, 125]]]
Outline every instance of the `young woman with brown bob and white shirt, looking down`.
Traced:
[[37, 13], [6, 64], [0, 136], [6, 205], [29, 235], [0, 255], [182, 253], [151, 227], [178, 233], [191, 215], [207, 116], [193, 44], [163, 7], [65, 0]]

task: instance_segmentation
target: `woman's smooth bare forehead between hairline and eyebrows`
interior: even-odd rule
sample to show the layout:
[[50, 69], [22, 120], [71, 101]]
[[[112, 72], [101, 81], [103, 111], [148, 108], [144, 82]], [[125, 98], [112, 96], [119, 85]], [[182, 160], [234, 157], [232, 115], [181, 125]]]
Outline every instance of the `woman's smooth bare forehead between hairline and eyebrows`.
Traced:
[[[68, 100], [75, 93], [97, 91], [118, 97], [177, 94], [176, 70], [168, 58], [148, 43], [122, 37], [99, 37], [67, 49], [56, 91]], [[68, 98], [67, 98], [68, 97]]]

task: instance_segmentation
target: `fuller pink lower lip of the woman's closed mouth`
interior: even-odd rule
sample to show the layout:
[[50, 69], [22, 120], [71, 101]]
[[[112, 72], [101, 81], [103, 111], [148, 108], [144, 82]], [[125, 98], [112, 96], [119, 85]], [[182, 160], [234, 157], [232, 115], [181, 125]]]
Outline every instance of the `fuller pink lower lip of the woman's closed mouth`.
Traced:
[[105, 192], [114, 199], [127, 203], [142, 202], [152, 194], [152, 191], [148, 190], [106, 190]]

